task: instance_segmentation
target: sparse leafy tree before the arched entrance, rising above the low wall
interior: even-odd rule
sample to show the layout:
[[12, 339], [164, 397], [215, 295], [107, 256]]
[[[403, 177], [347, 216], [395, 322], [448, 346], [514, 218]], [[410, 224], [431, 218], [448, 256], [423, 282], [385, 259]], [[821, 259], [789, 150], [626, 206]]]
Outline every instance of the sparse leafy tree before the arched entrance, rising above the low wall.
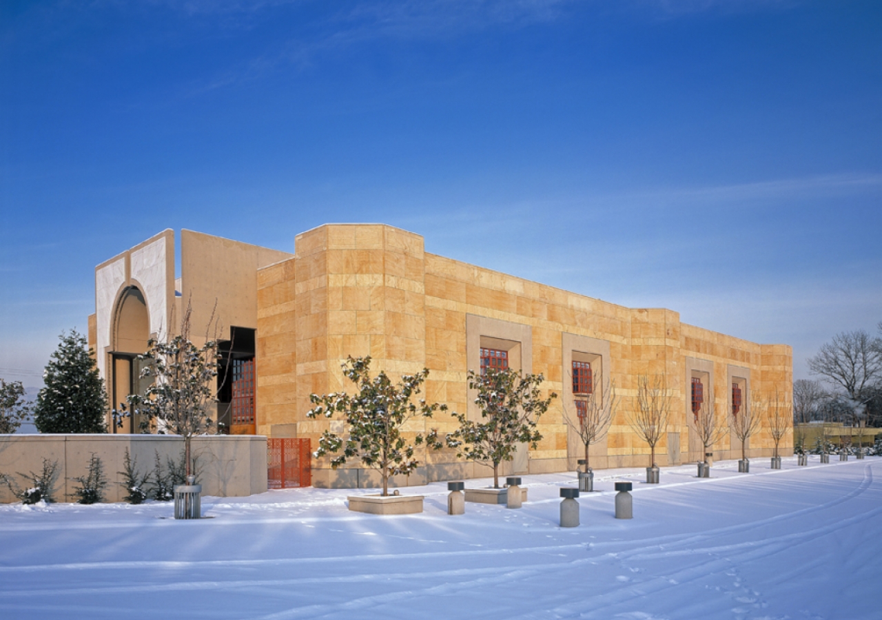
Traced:
[[206, 342], [201, 347], [191, 340], [191, 316], [192, 307], [188, 303], [178, 335], [148, 340], [146, 354], [138, 355], [138, 359], [147, 362], [141, 378], [152, 378], [153, 383], [144, 394], [128, 397], [131, 413], [145, 416], [142, 419], [155, 425], [157, 433], [183, 437], [186, 475], [193, 471], [193, 437], [214, 430], [211, 414], [217, 402], [220, 359], [218, 341], [209, 338], [209, 332], [217, 331], [214, 315], [208, 322]]

